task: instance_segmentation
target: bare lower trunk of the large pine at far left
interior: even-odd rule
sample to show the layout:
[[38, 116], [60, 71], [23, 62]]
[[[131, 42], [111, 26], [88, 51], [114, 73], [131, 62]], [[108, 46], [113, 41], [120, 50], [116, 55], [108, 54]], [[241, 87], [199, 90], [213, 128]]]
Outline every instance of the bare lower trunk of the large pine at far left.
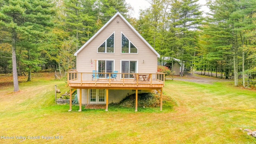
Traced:
[[18, 73], [17, 73], [17, 61], [16, 61], [16, 32], [12, 33], [12, 75], [14, 92], [19, 91]]

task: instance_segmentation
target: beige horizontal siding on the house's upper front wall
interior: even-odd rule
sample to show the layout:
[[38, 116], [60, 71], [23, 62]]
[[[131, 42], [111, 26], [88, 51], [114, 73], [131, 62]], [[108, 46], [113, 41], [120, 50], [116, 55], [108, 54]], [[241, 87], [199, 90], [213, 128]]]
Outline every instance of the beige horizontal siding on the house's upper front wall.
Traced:
[[[119, 21], [119, 22], [117, 22]], [[98, 47], [114, 32], [114, 53], [97, 53]], [[138, 48], [138, 54], [121, 53], [121, 32]], [[92, 59], [92, 63], [90, 60]], [[133, 30], [116, 16], [85, 48], [77, 54], [78, 72], [95, 70], [94, 60], [114, 60], [114, 70], [121, 72], [121, 60], [138, 61], [138, 73], [157, 72], [157, 55], [133, 32]], [[144, 63], [142, 63], [144, 60]]]

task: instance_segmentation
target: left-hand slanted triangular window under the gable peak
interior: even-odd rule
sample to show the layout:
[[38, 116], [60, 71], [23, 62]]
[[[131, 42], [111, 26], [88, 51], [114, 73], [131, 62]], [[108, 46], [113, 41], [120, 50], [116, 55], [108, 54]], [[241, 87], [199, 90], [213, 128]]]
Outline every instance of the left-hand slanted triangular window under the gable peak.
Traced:
[[98, 47], [98, 52], [114, 53], [114, 33]]

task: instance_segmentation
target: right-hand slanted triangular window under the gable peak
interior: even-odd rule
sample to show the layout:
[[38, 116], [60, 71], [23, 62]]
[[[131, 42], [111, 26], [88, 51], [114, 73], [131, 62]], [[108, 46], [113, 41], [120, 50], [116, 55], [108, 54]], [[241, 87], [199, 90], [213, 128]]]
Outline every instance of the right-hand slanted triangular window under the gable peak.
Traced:
[[138, 49], [122, 33], [122, 53], [138, 53]]

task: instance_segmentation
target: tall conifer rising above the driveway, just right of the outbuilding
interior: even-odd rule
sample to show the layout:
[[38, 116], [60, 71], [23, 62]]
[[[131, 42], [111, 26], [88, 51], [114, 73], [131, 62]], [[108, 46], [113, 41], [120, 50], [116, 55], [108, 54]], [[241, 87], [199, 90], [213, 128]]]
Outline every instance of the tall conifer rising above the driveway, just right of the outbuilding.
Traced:
[[[198, 48], [199, 26], [203, 20], [198, 0], [174, 0], [170, 10], [171, 29], [177, 40], [172, 45], [177, 58], [189, 67]], [[182, 76], [183, 72], [180, 72]]]

